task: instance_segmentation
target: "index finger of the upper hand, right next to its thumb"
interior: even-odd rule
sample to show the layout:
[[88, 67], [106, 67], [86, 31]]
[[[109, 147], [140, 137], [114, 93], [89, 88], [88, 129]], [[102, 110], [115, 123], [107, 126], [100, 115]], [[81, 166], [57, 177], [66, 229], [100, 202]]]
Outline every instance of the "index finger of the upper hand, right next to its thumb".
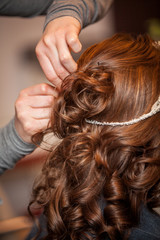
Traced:
[[67, 69], [70, 73], [75, 72], [77, 69], [77, 63], [73, 60], [65, 38], [61, 38], [57, 41], [57, 50], [59, 52], [61, 64], [65, 67], [65, 69]]

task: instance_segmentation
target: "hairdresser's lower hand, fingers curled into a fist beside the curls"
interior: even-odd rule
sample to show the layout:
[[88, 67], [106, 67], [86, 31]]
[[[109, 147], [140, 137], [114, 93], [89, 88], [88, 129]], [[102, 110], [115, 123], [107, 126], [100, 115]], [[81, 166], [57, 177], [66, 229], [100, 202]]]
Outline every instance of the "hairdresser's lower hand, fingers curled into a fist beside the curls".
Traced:
[[15, 128], [19, 136], [28, 143], [38, 131], [47, 128], [56, 90], [42, 83], [22, 90], [15, 103]]

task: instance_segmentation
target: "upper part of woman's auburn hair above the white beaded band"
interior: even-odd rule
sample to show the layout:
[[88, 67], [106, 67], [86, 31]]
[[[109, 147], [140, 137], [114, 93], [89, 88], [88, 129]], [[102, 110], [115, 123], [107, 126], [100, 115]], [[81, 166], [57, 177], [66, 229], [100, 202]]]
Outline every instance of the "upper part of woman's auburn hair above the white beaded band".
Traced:
[[62, 136], [70, 126], [87, 125], [85, 118], [123, 122], [148, 113], [160, 95], [159, 69], [160, 46], [148, 36], [116, 34], [88, 48], [77, 72], [65, 79], [58, 100], [64, 105], [57, 115], [60, 111], [60, 120], [64, 116], [67, 124], [65, 129], [60, 126]]

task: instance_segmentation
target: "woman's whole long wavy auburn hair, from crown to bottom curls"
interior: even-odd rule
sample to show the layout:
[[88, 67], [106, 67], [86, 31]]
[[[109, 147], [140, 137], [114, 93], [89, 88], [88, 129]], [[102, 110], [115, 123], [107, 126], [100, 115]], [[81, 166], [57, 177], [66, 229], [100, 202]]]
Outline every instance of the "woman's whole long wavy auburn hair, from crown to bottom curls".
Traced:
[[63, 82], [50, 132], [61, 139], [32, 201], [54, 240], [126, 239], [142, 206], [160, 206], [160, 113], [130, 126], [160, 95], [160, 48], [149, 36], [116, 34], [88, 48]]

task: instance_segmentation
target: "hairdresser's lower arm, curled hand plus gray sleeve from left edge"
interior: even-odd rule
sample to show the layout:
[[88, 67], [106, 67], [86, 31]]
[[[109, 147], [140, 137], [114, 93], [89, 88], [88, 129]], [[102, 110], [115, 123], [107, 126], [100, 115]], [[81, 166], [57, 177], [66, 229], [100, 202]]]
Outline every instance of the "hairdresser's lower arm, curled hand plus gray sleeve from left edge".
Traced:
[[0, 174], [34, 151], [31, 136], [47, 128], [56, 95], [48, 84], [38, 84], [21, 91], [15, 103], [15, 118], [0, 129]]

